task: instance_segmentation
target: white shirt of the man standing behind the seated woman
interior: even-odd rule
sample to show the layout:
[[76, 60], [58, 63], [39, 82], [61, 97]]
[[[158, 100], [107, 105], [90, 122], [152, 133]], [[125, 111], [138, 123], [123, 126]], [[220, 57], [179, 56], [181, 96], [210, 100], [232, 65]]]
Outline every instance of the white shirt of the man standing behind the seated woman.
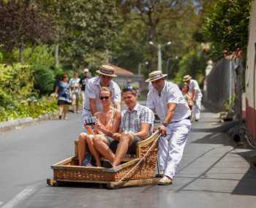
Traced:
[[[89, 99], [96, 99], [96, 107], [97, 112], [102, 111], [102, 101], [99, 99], [99, 90], [102, 86], [100, 85], [100, 78], [93, 77], [88, 80], [86, 83], [86, 91], [85, 91], [85, 102], [84, 108], [90, 110], [90, 101]], [[108, 86], [112, 91], [111, 99], [113, 102], [121, 101], [121, 90], [119, 86], [113, 80], [110, 81]]]

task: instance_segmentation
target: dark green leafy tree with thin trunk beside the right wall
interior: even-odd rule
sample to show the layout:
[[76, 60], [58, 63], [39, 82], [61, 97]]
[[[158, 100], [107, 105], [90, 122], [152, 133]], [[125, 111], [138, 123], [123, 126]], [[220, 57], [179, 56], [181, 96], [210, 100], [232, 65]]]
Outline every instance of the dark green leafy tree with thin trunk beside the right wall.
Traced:
[[[246, 53], [251, 0], [219, 0], [206, 17], [203, 30], [211, 42], [211, 55], [215, 60], [234, 54], [238, 60], [236, 72], [236, 118], [241, 120], [241, 95], [243, 89], [244, 66], [241, 52]], [[245, 57], [245, 55], [244, 55]], [[245, 59], [245, 58], [244, 58]]]

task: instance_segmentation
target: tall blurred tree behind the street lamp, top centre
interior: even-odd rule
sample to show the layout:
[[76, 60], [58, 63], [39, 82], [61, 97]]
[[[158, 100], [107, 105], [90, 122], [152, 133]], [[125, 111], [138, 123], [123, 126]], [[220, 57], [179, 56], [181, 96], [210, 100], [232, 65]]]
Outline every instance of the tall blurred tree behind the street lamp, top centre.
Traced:
[[[121, 58], [115, 59], [118, 63], [125, 63], [126, 66], [129, 65], [128, 68], [135, 70], [138, 63], [149, 61], [151, 70], [157, 69], [157, 50], [148, 45], [149, 41], [155, 44], [172, 42], [170, 47], [162, 48], [162, 58], [165, 60], [176, 55], [182, 56], [188, 52], [189, 47], [196, 47], [192, 41], [192, 33], [197, 26], [195, 1], [130, 0], [118, 1], [118, 4], [121, 8], [119, 12], [124, 19], [124, 27], [121, 28], [124, 37], [118, 36], [120, 45], [114, 50], [117, 48], [118, 51], [122, 51], [126, 58], [122, 58], [120, 53], [116, 52], [118, 58]], [[131, 47], [135, 49], [132, 50]], [[128, 63], [127, 55], [133, 55], [136, 64]]]

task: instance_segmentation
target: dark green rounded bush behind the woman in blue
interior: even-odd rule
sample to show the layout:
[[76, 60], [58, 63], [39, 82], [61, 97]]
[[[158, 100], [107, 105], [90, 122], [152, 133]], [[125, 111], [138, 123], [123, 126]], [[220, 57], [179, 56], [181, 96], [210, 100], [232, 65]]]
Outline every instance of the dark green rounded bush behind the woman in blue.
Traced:
[[45, 65], [34, 65], [34, 73], [34, 88], [39, 90], [40, 94], [51, 93], [55, 85], [53, 71]]

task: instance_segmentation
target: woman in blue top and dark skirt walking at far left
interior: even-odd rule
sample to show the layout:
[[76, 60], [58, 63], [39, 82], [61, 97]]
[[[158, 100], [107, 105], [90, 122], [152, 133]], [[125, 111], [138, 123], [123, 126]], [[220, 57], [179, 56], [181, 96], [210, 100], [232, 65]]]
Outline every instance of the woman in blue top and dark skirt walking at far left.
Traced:
[[59, 119], [67, 119], [67, 111], [69, 104], [71, 104], [70, 85], [68, 81], [69, 77], [67, 74], [64, 74], [55, 88], [55, 93], [58, 95]]

